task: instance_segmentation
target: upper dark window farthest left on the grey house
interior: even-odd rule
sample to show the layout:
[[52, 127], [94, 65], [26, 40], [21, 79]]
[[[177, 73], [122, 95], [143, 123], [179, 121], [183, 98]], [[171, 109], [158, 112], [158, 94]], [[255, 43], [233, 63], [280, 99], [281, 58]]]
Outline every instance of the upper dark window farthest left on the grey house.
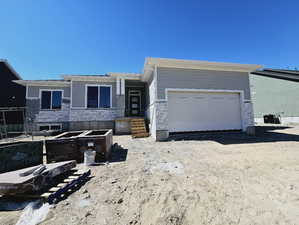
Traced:
[[42, 91], [42, 109], [61, 109], [62, 91]]

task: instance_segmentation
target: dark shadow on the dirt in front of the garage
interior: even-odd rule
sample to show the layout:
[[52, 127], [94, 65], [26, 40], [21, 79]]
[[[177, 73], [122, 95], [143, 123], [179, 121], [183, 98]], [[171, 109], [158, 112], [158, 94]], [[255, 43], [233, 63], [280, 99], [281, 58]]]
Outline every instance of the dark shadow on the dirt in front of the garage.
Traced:
[[223, 145], [248, 144], [278, 141], [299, 141], [299, 135], [281, 133], [280, 130], [289, 129], [285, 126], [256, 126], [254, 136], [244, 132], [188, 132], [170, 134], [168, 141], [206, 140], [215, 141]]

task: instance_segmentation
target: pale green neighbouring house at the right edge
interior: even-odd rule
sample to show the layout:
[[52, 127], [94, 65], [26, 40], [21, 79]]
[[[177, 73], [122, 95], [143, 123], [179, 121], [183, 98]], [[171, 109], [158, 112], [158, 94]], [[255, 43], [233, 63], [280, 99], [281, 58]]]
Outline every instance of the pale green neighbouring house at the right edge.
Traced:
[[250, 76], [254, 117], [280, 117], [281, 123], [299, 123], [299, 71], [264, 69]]

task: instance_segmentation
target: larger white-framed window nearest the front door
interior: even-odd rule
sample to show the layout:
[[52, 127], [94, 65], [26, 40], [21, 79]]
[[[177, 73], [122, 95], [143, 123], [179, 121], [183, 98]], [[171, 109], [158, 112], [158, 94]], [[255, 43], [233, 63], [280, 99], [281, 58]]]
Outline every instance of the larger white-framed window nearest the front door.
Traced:
[[87, 86], [87, 108], [111, 108], [110, 85]]

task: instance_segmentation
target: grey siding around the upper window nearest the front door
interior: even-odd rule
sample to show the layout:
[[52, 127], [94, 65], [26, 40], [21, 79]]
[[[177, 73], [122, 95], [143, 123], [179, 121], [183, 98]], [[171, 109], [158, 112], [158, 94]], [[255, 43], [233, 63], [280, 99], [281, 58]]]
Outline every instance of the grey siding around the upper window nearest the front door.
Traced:
[[112, 85], [112, 107], [116, 107], [116, 82], [72, 82], [72, 107], [85, 108], [86, 85]]

